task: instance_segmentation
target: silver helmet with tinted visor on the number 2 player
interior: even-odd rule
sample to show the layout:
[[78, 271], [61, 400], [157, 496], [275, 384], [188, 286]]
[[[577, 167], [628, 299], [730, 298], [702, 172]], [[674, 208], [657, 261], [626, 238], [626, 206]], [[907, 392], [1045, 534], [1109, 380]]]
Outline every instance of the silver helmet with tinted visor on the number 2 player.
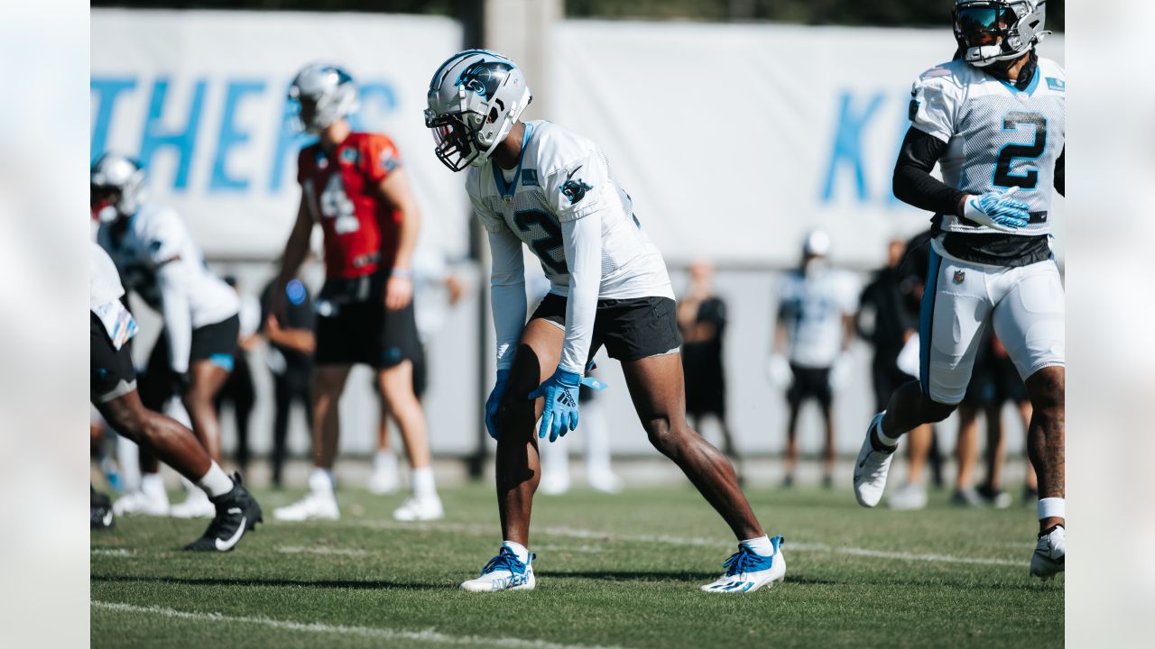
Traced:
[[976, 67], [1018, 59], [1050, 35], [1046, 0], [955, 0], [954, 39]]

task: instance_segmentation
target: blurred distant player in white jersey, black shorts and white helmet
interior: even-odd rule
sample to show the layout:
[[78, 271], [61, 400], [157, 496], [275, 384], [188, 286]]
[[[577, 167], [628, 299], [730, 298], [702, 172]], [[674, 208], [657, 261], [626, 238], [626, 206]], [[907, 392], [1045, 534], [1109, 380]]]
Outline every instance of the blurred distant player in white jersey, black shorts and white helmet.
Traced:
[[830, 237], [813, 230], [803, 243], [802, 263], [785, 275], [780, 291], [778, 326], [768, 370], [780, 387], [789, 383], [787, 403], [787, 471], [790, 487], [798, 468], [798, 413], [814, 398], [826, 424], [822, 486], [834, 485], [834, 390], [850, 373], [858, 289], [845, 271], [830, 267]]

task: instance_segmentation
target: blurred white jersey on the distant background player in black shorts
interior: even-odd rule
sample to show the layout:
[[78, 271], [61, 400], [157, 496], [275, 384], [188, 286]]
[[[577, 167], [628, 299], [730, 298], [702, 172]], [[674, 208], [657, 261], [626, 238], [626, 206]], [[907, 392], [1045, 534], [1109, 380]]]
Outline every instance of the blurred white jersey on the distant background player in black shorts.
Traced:
[[830, 367], [842, 352], [842, 319], [858, 308], [858, 282], [847, 271], [797, 270], [782, 278], [778, 326], [787, 328], [787, 357], [803, 367]]

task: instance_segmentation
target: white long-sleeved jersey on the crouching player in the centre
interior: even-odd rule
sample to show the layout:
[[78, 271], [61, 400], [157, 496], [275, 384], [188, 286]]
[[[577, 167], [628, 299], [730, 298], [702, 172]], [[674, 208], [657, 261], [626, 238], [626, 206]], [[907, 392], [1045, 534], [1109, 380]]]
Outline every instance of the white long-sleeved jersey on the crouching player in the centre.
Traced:
[[594, 142], [549, 121], [526, 122], [517, 167], [490, 158], [469, 170], [465, 188], [493, 252], [493, 326], [498, 367], [526, 324], [522, 244], [542, 263], [550, 292], [567, 298], [560, 367], [584, 370], [597, 303], [673, 299], [665, 262], [634, 217], [629, 195]]

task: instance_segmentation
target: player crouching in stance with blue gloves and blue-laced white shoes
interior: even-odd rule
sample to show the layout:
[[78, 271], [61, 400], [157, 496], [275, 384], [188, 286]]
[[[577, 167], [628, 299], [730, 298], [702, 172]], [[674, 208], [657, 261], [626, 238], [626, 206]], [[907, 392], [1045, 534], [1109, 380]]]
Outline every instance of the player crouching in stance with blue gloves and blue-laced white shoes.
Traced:
[[[504, 543], [471, 591], [534, 588], [529, 520], [541, 480], [538, 438], [578, 427], [582, 372], [606, 346], [621, 361], [650, 441], [673, 460], [742, 539], [709, 592], [750, 592], [785, 575], [778, 550], [751, 512], [733, 468], [686, 424], [673, 291], [661, 253], [602, 151], [549, 121], [517, 120], [530, 102], [520, 68], [486, 50], [450, 57], [433, 74], [425, 126], [437, 156], [469, 169], [465, 189], [489, 232], [497, 381], [485, 423], [498, 440]], [[522, 244], [537, 255], [550, 294], [526, 322]], [[541, 416], [541, 428], [534, 423]]]

